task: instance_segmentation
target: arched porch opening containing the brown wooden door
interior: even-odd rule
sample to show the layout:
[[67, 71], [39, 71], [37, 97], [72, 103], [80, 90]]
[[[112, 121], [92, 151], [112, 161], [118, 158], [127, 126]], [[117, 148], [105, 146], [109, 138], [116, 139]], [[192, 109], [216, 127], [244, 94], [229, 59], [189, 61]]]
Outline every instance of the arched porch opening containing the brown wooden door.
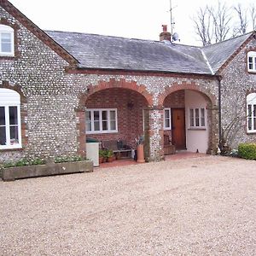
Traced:
[[[176, 90], [164, 102], [164, 134], [177, 149], [212, 150], [212, 101], [198, 90]], [[216, 125], [216, 124], [215, 124]]]

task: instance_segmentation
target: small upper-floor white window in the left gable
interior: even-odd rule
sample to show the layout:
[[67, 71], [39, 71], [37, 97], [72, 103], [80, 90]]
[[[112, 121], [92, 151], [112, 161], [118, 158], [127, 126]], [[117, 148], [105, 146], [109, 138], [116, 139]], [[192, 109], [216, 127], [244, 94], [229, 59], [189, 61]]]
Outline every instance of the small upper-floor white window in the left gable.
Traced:
[[15, 31], [12, 27], [0, 24], [0, 55], [15, 55]]

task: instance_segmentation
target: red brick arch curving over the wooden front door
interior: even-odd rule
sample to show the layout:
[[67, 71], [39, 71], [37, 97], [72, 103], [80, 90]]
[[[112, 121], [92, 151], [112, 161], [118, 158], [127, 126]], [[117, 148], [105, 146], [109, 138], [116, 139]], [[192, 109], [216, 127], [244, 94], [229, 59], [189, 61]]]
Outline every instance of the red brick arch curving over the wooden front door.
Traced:
[[159, 105], [163, 106], [166, 96], [172, 94], [177, 90], [195, 90], [197, 92], [201, 92], [201, 95], [206, 98], [207, 102], [210, 100], [212, 105], [217, 105], [216, 96], [213, 96], [212, 93], [210, 93], [205, 88], [202, 88], [200, 85], [195, 84], [195, 82], [192, 82], [190, 84], [186, 82], [182, 82], [182, 84], [174, 83], [171, 87], [166, 87], [159, 96]]

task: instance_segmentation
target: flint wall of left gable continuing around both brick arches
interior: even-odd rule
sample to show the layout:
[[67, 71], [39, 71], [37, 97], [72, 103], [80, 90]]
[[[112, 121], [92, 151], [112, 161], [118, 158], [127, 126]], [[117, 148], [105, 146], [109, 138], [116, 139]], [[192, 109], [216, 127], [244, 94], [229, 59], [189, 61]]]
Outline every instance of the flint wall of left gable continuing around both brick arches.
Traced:
[[[161, 108], [166, 96], [176, 90], [200, 90], [212, 99], [212, 105], [217, 105], [218, 83], [207, 77], [67, 73], [67, 61], [2, 8], [0, 15], [1, 19], [18, 27], [15, 41], [19, 52], [14, 59], [0, 57], [0, 87], [8, 84], [8, 88], [19, 90], [26, 99], [21, 102], [21, 109], [24, 109], [22, 148], [1, 150], [0, 161], [83, 153], [83, 108], [87, 98], [97, 90], [125, 88], [147, 99], [148, 157], [151, 160], [160, 160], [163, 154]], [[218, 131], [216, 122], [213, 124], [212, 135]], [[216, 141], [216, 137], [212, 137], [213, 140]]]

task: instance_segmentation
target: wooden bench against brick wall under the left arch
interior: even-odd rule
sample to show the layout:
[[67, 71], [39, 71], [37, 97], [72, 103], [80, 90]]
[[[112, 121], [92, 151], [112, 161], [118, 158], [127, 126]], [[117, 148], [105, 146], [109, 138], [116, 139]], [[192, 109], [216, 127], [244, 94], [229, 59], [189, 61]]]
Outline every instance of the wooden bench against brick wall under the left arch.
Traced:
[[121, 158], [122, 153], [125, 153], [126, 157], [129, 157], [129, 154], [131, 154], [131, 147], [122, 140], [102, 141], [102, 148], [113, 150], [113, 154], [115, 154], [117, 159]]

